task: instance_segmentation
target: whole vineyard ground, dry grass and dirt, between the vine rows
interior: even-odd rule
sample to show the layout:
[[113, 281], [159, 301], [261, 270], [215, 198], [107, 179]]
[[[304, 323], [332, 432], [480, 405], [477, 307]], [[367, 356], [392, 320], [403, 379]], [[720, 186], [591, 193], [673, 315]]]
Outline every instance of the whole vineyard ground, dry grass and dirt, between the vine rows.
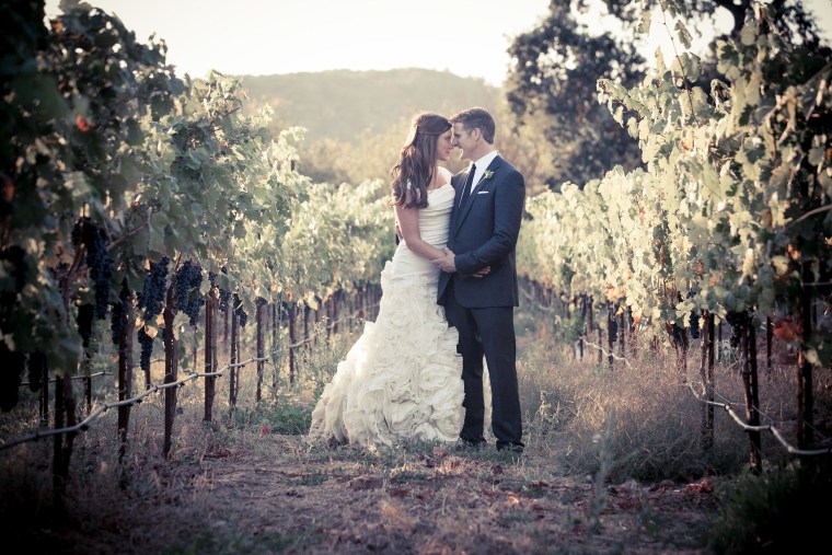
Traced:
[[[355, 338], [343, 334], [301, 360], [293, 384], [285, 367], [267, 367], [266, 385], [277, 388], [259, 405], [254, 365], [241, 372], [233, 414], [219, 380], [210, 424], [200, 382], [180, 389], [167, 459], [161, 395], [132, 409], [123, 465], [116, 414], [105, 413], [76, 440], [62, 517], [51, 510], [51, 441], [0, 452], [5, 537], [42, 553], [709, 553], [700, 532], [716, 498], [701, 479], [742, 470], [744, 432], [717, 409], [714, 447], [701, 448], [702, 404], [672, 352], [640, 349], [610, 371], [594, 352], [576, 360], [546, 314], [518, 314], [518, 329], [520, 459], [436, 444], [310, 448], [299, 433]], [[687, 380], [697, 365], [691, 352]], [[787, 433], [790, 377], [775, 368], [760, 388], [763, 413]], [[829, 406], [829, 377], [818, 382], [819, 406]], [[718, 368], [717, 390], [742, 413], [735, 368]], [[112, 400], [112, 381], [99, 394]], [[26, 395], [0, 415], [2, 440], [36, 427]], [[771, 464], [785, 456], [766, 436], [763, 452]]]

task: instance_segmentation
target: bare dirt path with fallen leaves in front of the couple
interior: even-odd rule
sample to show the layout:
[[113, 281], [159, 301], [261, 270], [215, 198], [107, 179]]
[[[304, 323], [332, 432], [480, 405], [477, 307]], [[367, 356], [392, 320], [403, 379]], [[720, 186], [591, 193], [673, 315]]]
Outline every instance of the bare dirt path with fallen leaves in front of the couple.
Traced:
[[122, 553], [710, 553], [708, 484], [627, 483], [599, 499], [589, 479], [550, 466], [530, 452], [309, 450], [298, 437], [252, 436], [158, 469], [165, 493], [125, 513], [140, 520], [74, 547], [106, 553], [108, 533], [128, 532]]

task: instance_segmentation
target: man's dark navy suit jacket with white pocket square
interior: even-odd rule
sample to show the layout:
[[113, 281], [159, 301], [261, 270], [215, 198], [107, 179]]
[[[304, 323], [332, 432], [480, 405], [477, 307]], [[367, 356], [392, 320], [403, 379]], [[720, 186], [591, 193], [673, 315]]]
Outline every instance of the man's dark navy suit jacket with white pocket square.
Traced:
[[[460, 200], [467, 171], [451, 178], [457, 190], [451, 210], [448, 248], [455, 253], [457, 273], [439, 275], [437, 302], [446, 304], [446, 289], [453, 279], [457, 301], [466, 308], [517, 307], [519, 304], [515, 247], [525, 203], [523, 176], [501, 157], [488, 164], [490, 178], [483, 176], [469, 196]], [[483, 278], [472, 275], [490, 266]]]

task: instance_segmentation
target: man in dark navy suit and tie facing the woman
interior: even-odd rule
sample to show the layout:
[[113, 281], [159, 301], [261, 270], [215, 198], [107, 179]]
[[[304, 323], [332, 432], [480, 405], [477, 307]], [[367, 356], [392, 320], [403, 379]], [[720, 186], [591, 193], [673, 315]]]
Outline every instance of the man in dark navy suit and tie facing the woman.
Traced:
[[[475, 107], [451, 118], [453, 146], [473, 162], [451, 183], [457, 196], [448, 247], [432, 261], [439, 275], [438, 303], [460, 335], [465, 421], [460, 439], [485, 443], [483, 356], [492, 386], [492, 430], [498, 450], [523, 451], [520, 394], [517, 385], [513, 311], [518, 305], [515, 246], [520, 233], [525, 185], [517, 169], [494, 149], [494, 118]], [[457, 254], [459, 253], [459, 254]], [[490, 273], [474, 279], [477, 270]]]

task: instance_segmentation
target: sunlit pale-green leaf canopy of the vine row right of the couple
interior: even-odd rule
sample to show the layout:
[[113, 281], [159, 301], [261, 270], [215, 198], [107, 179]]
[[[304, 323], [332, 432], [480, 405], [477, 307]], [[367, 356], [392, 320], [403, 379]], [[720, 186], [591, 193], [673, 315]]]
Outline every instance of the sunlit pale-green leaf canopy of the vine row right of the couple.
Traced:
[[[692, 84], [701, 65], [690, 54], [671, 68], [659, 59], [631, 90], [599, 81], [610, 112], [634, 114], [624, 123], [647, 167], [531, 198], [521, 273], [558, 291], [623, 300], [657, 327], [686, 325], [691, 310], [795, 314], [800, 261], [819, 284], [810, 294], [823, 298], [832, 273], [829, 58], [785, 43], [765, 18], [720, 42], [718, 55], [729, 81], [707, 92]], [[829, 340], [808, 331], [802, 339], [813, 363], [828, 363]]]

